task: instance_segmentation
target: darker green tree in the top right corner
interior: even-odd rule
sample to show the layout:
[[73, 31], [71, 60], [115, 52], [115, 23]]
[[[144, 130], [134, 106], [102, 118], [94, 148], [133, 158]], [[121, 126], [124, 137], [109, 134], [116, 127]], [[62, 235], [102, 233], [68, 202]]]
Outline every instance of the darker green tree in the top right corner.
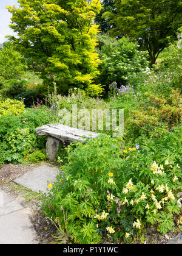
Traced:
[[[137, 40], [141, 48], [149, 52], [150, 63], [155, 60], [176, 39], [177, 29], [181, 26], [181, 1], [115, 1], [116, 14], [107, 11], [103, 18], [114, 24], [109, 30], [116, 37], [127, 35]], [[175, 15], [175, 18], [171, 18]]]

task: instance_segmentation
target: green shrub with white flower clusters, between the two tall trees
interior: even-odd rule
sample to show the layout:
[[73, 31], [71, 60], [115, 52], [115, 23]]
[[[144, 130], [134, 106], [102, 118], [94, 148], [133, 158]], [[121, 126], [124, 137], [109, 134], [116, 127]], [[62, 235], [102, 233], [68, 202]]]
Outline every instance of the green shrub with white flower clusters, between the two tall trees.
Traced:
[[138, 51], [138, 45], [127, 38], [116, 40], [107, 35], [99, 35], [100, 76], [98, 83], [108, 85], [116, 82], [118, 86], [126, 85], [129, 77], [136, 73], [149, 72], [146, 52]]

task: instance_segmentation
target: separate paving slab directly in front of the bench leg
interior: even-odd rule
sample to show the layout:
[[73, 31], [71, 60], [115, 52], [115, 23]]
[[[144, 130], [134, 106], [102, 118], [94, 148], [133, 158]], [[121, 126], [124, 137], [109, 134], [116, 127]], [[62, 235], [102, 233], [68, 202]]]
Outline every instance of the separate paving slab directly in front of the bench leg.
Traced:
[[41, 165], [15, 179], [14, 182], [37, 193], [39, 191], [46, 193], [47, 182], [55, 182], [58, 172], [58, 168]]

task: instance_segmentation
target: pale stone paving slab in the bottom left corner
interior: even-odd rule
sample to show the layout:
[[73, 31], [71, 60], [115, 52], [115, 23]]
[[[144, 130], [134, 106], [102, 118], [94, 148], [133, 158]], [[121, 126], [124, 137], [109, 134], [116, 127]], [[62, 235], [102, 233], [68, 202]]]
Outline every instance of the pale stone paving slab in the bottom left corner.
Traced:
[[0, 244], [37, 244], [36, 237], [25, 209], [0, 216]]

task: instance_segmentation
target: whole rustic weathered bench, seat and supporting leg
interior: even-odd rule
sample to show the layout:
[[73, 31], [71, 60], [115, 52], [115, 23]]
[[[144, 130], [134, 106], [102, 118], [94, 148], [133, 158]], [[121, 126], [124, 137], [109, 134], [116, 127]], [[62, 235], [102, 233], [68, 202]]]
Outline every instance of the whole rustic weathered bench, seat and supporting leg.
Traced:
[[60, 141], [72, 143], [78, 141], [86, 143], [86, 139], [96, 138], [99, 133], [89, 132], [88, 130], [81, 130], [64, 126], [62, 124], [47, 124], [36, 129], [38, 135], [47, 135], [46, 154], [49, 160], [53, 161], [56, 158], [59, 149]]

